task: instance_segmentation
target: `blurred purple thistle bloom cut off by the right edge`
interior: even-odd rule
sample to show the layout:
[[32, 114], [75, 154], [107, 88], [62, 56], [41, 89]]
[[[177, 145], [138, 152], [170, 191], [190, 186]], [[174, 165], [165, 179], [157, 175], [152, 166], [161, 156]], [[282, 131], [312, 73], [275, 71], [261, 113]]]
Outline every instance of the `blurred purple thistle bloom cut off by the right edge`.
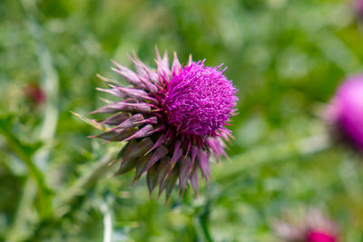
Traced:
[[327, 110], [333, 133], [356, 150], [363, 150], [363, 75], [349, 78], [339, 88]]

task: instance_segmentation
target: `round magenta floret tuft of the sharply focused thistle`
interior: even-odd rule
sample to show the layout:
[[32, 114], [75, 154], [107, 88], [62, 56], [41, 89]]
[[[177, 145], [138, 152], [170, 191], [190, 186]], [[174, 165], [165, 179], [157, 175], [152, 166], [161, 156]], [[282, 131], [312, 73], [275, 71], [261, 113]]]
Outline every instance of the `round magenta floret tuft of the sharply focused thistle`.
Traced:
[[172, 78], [163, 102], [169, 124], [185, 135], [213, 135], [230, 118], [237, 100], [223, 72], [203, 63], [191, 63]]

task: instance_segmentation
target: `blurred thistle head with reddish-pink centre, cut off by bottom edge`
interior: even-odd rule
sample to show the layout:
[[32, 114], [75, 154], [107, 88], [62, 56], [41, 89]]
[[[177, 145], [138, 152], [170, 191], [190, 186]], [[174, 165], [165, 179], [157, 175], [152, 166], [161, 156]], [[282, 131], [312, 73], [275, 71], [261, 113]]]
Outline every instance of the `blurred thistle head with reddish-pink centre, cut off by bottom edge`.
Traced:
[[[296, 219], [295, 219], [296, 220]], [[274, 224], [276, 234], [286, 242], [338, 242], [338, 226], [325, 218], [318, 209], [305, 211], [303, 218], [294, 221], [287, 214]]]

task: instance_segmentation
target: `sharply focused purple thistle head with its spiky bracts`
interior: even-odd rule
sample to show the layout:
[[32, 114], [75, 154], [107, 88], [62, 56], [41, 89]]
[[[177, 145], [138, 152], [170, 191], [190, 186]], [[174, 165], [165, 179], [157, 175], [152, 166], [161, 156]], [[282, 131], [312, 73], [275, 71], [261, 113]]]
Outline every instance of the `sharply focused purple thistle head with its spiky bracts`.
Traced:
[[94, 113], [113, 113], [100, 123], [110, 127], [93, 136], [110, 141], [128, 141], [117, 159], [122, 160], [117, 175], [135, 169], [133, 182], [146, 173], [150, 193], [159, 186], [166, 199], [178, 184], [190, 183], [197, 192], [199, 173], [207, 182], [211, 176], [210, 156], [227, 157], [224, 140], [231, 131], [224, 125], [235, 115], [237, 90], [218, 67], [206, 67], [204, 61], [185, 66], [174, 53], [172, 68], [167, 53], [156, 50], [157, 70], [132, 59], [136, 72], [115, 63], [131, 87], [123, 87], [102, 76], [110, 89], [98, 89], [120, 98]]

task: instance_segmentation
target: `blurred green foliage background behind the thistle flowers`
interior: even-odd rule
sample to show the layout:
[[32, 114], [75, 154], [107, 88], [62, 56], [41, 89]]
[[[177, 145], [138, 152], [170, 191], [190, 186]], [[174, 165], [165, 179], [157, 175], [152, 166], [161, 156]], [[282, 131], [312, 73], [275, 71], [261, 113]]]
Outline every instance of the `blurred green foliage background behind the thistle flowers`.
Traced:
[[[362, 40], [343, 0], [1, 0], [0, 240], [280, 241], [274, 219], [314, 207], [363, 241], [362, 158], [320, 118]], [[224, 63], [240, 90], [231, 162], [167, 205], [132, 174], [87, 177], [120, 144], [71, 112], [101, 106], [96, 73], [122, 82], [111, 59], [154, 67], [155, 46]]]

